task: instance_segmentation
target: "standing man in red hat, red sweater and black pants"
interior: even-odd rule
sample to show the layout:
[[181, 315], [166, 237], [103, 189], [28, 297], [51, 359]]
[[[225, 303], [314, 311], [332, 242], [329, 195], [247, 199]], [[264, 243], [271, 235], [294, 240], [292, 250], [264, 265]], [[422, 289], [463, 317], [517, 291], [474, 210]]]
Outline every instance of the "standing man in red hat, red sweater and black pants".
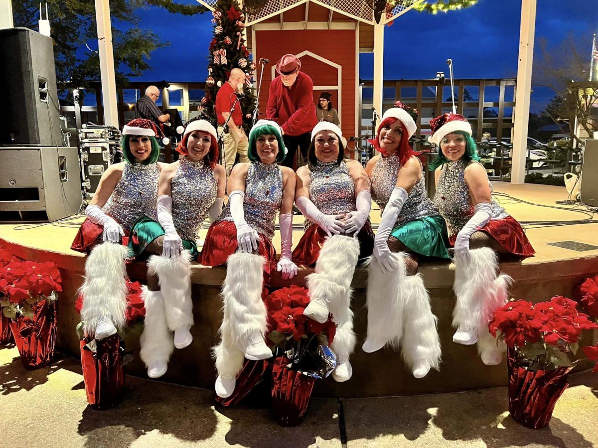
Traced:
[[300, 72], [301, 61], [293, 54], [285, 54], [276, 63], [280, 76], [270, 83], [266, 118], [282, 127], [283, 140], [288, 151], [283, 166], [293, 167], [297, 147], [307, 160], [311, 132], [318, 119], [313, 105], [313, 81]]

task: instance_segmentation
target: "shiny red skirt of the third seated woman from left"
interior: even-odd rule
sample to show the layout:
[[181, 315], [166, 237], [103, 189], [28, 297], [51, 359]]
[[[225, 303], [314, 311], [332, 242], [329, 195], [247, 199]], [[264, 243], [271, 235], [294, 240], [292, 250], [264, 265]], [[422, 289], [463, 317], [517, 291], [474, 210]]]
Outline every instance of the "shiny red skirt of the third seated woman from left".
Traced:
[[[267, 278], [276, 270], [278, 260], [272, 242], [260, 234], [259, 254], [266, 258], [264, 274]], [[202, 253], [197, 257], [203, 266], [224, 266], [228, 257], [237, 251], [237, 228], [233, 221], [218, 221], [210, 226]]]

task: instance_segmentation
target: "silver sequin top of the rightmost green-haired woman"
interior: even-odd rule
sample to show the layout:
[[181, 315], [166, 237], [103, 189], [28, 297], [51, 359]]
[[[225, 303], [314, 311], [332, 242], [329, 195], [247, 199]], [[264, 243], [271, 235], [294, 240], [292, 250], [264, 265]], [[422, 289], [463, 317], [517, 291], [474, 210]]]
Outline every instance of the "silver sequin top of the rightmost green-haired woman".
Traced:
[[[490, 190], [492, 190], [492, 184]], [[469, 218], [474, 215], [471, 194], [465, 184], [465, 163], [463, 160], [451, 161], [443, 166], [438, 178], [434, 203], [447, 222], [449, 235], [459, 233], [469, 221]], [[508, 213], [496, 202], [496, 199], [492, 198], [490, 203], [493, 220], [508, 217]]]

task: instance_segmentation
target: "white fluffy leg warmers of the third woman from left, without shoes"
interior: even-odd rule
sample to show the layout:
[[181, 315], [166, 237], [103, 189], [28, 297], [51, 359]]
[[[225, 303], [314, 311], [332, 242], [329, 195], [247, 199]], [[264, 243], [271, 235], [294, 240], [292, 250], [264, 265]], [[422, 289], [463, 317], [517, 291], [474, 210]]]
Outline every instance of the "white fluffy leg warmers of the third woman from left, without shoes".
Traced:
[[212, 349], [216, 370], [224, 377], [236, 376], [243, 367], [245, 356], [237, 341], [251, 333], [266, 334], [267, 309], [261, 299], [265, 264], [266, 259], [260, 255], [236, 252], [228, 257], [222, 284], [221, 342]]

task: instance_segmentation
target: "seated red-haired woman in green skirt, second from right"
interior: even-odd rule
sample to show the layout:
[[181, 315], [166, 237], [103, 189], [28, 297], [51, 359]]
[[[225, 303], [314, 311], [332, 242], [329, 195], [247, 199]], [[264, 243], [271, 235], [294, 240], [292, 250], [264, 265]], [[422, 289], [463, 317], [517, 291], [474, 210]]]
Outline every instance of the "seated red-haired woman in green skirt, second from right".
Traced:
[[450, 259], [446, 223], [426, 193], [422, 163], [409, 146], [417, 112], [401, 102], [382, 116], [365, 171], [382, 218], [368, 273], [366, 353], [402, 346], [413, 376], [440, 368], [440, 341], [430, 296], [417, 274], [420, 258]]

